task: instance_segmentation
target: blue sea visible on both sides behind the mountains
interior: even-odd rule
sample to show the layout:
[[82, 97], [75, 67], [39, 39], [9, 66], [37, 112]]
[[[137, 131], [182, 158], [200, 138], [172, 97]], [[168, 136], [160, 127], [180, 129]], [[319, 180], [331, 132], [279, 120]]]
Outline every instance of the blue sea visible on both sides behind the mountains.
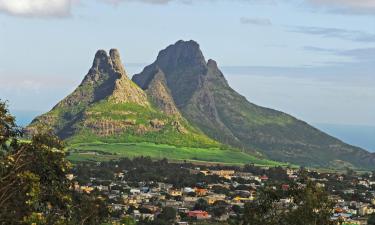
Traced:
[[[27, 126], [42, 111], [12, 110], [19, 126]], [[375, 126], [343, 125], [328, 123], [312, 123], [323, 132], [336, 137], [350, 145], [361, 147], [369, 152], [375, 152]]]

